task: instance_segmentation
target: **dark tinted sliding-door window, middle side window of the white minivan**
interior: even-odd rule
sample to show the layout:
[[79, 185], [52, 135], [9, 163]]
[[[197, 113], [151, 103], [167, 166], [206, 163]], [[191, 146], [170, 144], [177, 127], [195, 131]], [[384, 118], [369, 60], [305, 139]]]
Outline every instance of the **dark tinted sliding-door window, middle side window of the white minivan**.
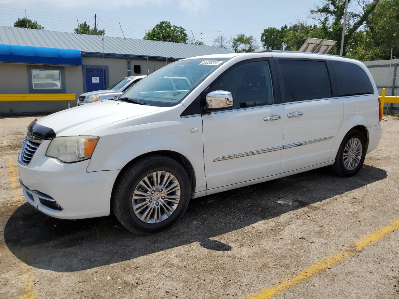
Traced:
[[285, 101], [331, 98], [330, 77], [324, 61], [279, 60]]

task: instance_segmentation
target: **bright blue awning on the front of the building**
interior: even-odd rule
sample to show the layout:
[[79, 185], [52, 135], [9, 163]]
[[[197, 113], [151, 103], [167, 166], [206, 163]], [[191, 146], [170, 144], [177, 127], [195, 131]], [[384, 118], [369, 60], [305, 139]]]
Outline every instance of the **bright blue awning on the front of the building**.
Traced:
[[0, 62], [82, 65], [82, 55], [75, 49], [0, 45]]

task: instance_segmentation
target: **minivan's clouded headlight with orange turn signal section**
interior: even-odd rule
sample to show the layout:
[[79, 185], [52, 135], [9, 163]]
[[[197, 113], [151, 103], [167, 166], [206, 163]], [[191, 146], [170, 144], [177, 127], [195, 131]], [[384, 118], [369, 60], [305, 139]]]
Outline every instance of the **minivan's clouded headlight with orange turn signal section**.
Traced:
[[90, 159], [98, 141], [97, 136], [55, 137], [47, 148], [46, 156], [66, 163]]

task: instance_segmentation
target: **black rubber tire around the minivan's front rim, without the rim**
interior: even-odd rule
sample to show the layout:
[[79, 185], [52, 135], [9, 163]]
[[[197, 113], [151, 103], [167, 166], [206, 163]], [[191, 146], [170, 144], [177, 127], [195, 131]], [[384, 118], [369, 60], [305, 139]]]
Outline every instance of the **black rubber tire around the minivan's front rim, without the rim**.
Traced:
[[[180, 201], [172, 214], [157, 223], [147, 223], [133, 211], [132, 197], [138, 183], [155, 171], [167, 171], [176, 177], [180, 184]], [[184, 214], [190, 201], [190, 178], [186, 170], [174, 159], [162, 155], [149, 155], [129, 165], [115, 182], [112, 208], [119, 222], [136, 234], [152, 234], [175, 224]]]

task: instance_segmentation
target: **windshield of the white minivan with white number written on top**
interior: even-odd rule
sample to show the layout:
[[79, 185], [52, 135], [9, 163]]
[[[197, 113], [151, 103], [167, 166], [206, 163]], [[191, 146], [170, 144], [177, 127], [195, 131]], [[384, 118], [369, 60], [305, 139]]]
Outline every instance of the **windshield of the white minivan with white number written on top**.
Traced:
[[195, 58], [176, 61], [148, 75], [122, 93], [119, 99], [130, 98], [150, 106], [174, 106], [228, 59]]

